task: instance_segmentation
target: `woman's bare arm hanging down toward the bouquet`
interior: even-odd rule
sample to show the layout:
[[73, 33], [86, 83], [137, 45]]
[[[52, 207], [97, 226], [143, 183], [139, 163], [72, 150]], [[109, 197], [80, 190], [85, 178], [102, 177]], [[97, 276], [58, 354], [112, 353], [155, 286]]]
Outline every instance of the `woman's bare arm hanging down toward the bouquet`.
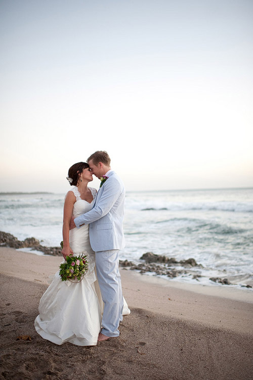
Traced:
[[66, 256], [73, 254], [69, 246], [69, 223], [71, 220], [71, 216], [73, 214], [73, 207], [76, 199], [73, 192], [68, 192], [64, 202], [64, 210], [63, 210], [63, 226], [62, 226], [62, 236], [63, 236], [63, 249], [62, 255], [64, 259]]

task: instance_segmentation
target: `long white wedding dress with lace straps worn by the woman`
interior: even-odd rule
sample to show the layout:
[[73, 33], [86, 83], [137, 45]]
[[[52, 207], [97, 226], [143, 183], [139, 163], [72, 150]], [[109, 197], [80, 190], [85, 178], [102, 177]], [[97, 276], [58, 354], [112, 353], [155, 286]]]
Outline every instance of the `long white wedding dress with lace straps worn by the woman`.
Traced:
[[[91, 187], [90, 190], [92, 203], [82, 200], [77, 187], [73, 186], [76, 197], [74, 217], [92, 209], [97, 191]], [[70, 342], [77, 346], [96, 346], [101, 330], [103, 301], [96, 275], [95, 252], [90, 245], [89, 225], [71, 229], [69, 244], [74, 256], [87, 255], [89, 270], [76, 283], [62, 281], [59, 271], [54, 275], [40, 299], [39, 315], [34, 326], [42, 338], [58, 345]], [[127, 314], [130, 314], [130, 310], [124, 300], [123, 315]]]

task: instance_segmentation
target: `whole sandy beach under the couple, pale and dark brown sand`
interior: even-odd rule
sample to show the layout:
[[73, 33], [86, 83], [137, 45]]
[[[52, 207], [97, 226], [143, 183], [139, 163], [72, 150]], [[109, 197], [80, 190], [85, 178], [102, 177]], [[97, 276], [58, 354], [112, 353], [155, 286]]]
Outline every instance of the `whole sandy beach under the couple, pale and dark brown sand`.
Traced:
[[[120, 336], [95, 347], [57, 346], [33, 323], [62, 258], [2, 247], [0, 260], [1, 379], [253, 377], [252, 291], [187, 286], [121, 269], [131, 314]], [[31, 340], [17, 340], [23, 335]]]

